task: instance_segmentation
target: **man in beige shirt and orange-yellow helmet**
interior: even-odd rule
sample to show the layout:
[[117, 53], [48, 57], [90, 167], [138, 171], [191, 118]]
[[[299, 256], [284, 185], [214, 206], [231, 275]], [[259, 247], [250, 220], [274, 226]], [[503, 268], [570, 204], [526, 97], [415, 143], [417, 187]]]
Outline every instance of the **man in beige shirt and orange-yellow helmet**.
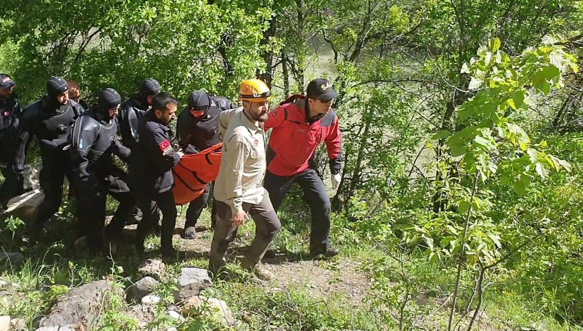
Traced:
[[245, 80], [239, 91], [243, 107], [220, 114], [223, 156], [215, 181], [217, 223], [209, 259], [209, 270], [214, 273], [224, 266], [227, 247], [249, 213], [257, 230], [241, 267], [259, 279], [269, 278], [257, 263], [281, 227], [269, 194], [262, 186], [266, 161], [265, 131], [261, 124], [267, 120], [270, 98], [264, 82]]

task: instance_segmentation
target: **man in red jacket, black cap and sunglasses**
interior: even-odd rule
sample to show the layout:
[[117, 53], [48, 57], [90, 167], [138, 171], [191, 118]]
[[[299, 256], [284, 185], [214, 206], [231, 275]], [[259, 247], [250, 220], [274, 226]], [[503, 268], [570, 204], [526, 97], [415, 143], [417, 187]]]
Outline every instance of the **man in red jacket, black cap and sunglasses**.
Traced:
[[324, 182], [310, 167], [310, 161], [318, 146], [325, 142], [332, 185], [338, 186], [342, 133], [338, 117], [331, 109], [332, 99], [338, 93], [328, 80], [314, 79], [308, 84], [306, 94], [294, 94], [282, 101], [265, 122], [265, 130], [273, 128], [266, 156], [265, 188], [277, 212], [291, 183], [297, 182], [312, 214], [310, 255], [335, 256], [339, 250], [329, 245], [330, 198]]

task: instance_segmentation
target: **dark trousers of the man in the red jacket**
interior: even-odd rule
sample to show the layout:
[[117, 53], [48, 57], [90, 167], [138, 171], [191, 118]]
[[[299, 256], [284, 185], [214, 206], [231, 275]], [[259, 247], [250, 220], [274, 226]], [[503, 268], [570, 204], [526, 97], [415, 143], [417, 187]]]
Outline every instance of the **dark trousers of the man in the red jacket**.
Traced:
[[324, 182], [314, 169], [307, 169], [293, 176], [278, 176], [267, 171], [265, 189], [269, 192], [273, 209], [276, 212], [279, 210], [293, 182], [297, 182], [304, 191], [312, 214], [310, 251], [326, 251], [330, 241], [330, 198]]

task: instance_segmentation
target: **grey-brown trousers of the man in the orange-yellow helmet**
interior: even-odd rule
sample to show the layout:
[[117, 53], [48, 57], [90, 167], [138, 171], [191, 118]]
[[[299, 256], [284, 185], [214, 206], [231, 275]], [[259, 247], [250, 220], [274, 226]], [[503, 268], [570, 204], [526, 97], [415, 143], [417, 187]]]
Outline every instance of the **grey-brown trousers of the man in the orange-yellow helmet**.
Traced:
[[[278, 214], [273, 210], [267, 191], [264, 193], [263, 200], [255, 205], [244, 202], [243, 210], [250, 214], [255, 222], [255, 238], [245, 253], [245, 258], [251, 264], [255, 264], [263, 258], [282, 225]], [[216, 267], [224, 264], [224, 254], [237, 235], [237, 227], [233, 225], [232, 217], [231, 207], [222, 201], [217, 201], [217, 223], [209, 254], [210, 262]]]

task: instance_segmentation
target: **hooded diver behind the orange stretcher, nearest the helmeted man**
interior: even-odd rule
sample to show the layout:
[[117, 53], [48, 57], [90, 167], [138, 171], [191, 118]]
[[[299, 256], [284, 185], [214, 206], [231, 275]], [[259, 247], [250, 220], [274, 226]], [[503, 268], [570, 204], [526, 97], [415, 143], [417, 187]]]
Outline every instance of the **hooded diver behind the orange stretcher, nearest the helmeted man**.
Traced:
[[[184, 107], [178, 116], [176, 131], [178, 143], [184, 154], [195, 154], [208, 147], [220, 143], [219, 138], [219, 114], [223, 110], [237, 108], [226, 97], [209, 97], [204, 91], [194, 91], [188, 97], [188, 105]], [[210, 185], [206, 185], [205, 193], [193, 200], [186, 211], [186, 223], [184, 224], [184, 238], [196, 238], [196, 221], [201, 216], [202, 210], [209, 199]], [[216, 223], [216, 203], [210, 213], [212, 228]]]

